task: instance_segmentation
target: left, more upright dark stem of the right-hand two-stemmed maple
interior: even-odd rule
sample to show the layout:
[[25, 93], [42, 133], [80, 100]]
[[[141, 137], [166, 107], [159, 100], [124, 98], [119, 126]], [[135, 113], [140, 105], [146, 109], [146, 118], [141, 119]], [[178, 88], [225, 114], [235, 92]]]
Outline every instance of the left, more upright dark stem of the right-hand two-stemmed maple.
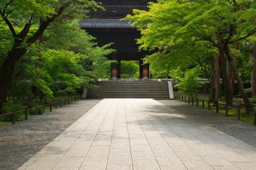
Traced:
[[225, 99], [228, 106], [232, 106], [232, 93], [230, 89], [230, 79], [227, 73], [227, 63], [225, 59], [225, 53], [223, 47], [218, 47], [220, 55], [220, 68], [222, 73], [222, 83], [225, 89]]

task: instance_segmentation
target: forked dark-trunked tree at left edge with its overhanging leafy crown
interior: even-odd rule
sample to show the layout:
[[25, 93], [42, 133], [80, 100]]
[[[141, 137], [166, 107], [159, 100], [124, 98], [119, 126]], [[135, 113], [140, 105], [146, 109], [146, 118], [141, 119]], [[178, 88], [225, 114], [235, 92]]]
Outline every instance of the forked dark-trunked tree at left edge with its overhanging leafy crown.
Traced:
[[[49, 25], [62, 14], [70, 16], [77, 13], [81, 15], [88, 6], [98, 6], [89, 0], [63, 0], [63, 1], [21, 1], [3, 0], [0, 3], [0, 23], [8, 26], [12, 35], [12, 47], [8, 49], [6, 56], [1, 58], [0, 67], [0, 108], [6, 100], [8, 88], [12, 82], [12, 76], [17, 62], [28, 52], [31, 44], [36, 40]], [[77, 17], [77, 15], [74, 15]], [[38, 27], [39, 20], [44, 20]]]

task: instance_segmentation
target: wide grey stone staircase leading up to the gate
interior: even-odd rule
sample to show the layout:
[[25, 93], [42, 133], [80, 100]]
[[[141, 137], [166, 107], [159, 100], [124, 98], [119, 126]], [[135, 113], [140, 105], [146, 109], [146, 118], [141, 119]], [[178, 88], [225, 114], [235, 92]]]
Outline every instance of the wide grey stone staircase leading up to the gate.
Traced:
[[167, 81], [99, 81], [98, 89], [88, 89], [86, 98], [169, 99]]

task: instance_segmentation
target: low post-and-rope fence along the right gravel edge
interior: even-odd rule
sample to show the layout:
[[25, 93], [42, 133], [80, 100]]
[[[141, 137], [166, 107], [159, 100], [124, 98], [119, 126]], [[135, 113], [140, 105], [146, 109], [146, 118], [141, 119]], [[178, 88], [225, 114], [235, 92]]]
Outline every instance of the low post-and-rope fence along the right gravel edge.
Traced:
[[[202, 108], [205, 108], [206, 107], [206, 104], [207, 104], [207, 109], [208, 111], [211, 111], [211, 102], [210, 100], [204, 100], [204, 99], [199, 99], [199, 98], [193, 98], [193, 97], [186, 97], [186, 95], [183, 95], [182, 93], [175, 93], [174, 94], [174, 99], [175, 100], [179, 100], [181, 102], [188, 102], [188, 104], [191, 104], [191, 105], [196, 105], [196, 107], [201, 107]], [[202, 105], [200, 106], [199, 103], [202, 102]], [[236, 113], [237, 113], [237, 120], [241, 120], [241, 109], [245, 108], [245, 106], [243, 104], [239, 104], [237, 105], [237, 107], [229, 107], [227, 104], [225, 103], [221, 103], [221, 102], [218, 102], [217, 104], [214, 104], [214, 107], [215, 107], [215, 111], [216, 113], [219, 113], [220, 112], [220, 107], [224, 107], [225, 109], [225, 116], [228, 117], [229, 116], [229, 111], [230, 110], [236, 110]], [[253, 104], [253, 106], [255, 106], [255, 104]], [[253, 111], [253, 112], [249, 112], [249, 111], [246, 111], [247, 114], [254, 114], [254, 120], [253, 120], [253, 125], [256, 125], [256, 111]]]

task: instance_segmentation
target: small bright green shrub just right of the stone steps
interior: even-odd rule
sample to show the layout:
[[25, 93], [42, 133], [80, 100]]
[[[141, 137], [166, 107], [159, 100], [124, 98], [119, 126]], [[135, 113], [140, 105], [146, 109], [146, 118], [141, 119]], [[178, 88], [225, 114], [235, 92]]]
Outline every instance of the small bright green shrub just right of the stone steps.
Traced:
[[199, 92], [199, 89], [204, 83], [198, 81], [198, 70], [191, 69], [185, 72], [184, 77], [176, 77], [180, 82], [175, 87], [179, 88], [179, 91], [193, 96]]

